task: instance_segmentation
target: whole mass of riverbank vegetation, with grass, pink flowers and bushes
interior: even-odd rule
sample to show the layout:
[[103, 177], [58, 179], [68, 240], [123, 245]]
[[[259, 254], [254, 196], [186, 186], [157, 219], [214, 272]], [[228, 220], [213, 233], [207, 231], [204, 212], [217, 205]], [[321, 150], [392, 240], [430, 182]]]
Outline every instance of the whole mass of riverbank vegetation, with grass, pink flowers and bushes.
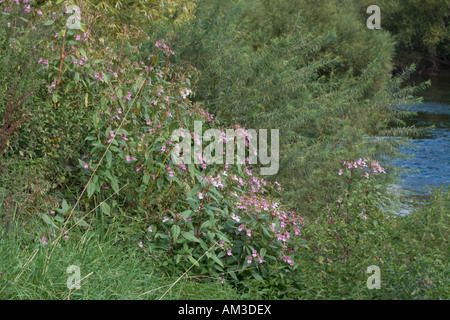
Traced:
[[[393, 35], [353, 0], [74, 4], [0, 3], [0, 298], [449, 298], [448, 190], [390, 209], [389, 161], [420, 134], [396, 107], [428, 85], [393, 74], [408, 10]], [[194, 121], [216, 142], [279, 129], [278, 173], [175, 162], [176, 129], [208, 150]]]

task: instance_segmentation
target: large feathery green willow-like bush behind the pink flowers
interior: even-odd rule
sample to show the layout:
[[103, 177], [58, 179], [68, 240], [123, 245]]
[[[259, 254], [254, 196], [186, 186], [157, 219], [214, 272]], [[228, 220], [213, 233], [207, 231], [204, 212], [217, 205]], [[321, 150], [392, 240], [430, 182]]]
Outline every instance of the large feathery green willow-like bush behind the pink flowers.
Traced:
[[400, 139], [369, 137], [415, 133], [402, 120], [411, 113], [395, 107], [426, 84], [402, 85], [413, 68], [391, 76], [390, 36], [368, 30], [354, 6], [205, 0], [195, 17], [172, 40], [199, 70], [193, 99], [225, 124], [280, 130], [271, 178], [307, 214], [336, 196], [333, 173], [346, 158], [399, 156]]

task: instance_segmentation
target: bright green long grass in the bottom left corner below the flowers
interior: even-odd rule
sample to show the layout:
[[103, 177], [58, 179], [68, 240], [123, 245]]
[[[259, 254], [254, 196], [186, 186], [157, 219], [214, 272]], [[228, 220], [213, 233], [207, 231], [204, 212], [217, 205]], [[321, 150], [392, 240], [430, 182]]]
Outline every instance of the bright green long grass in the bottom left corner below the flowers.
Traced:
[[[0, 242], [0, 299], [159, 299], [182, 274], [164, 272], [156, 258], [139, 247], [115, 245], [95, 233], [62, 239], [47, 265], [51, 250], [50, 244], [24, 241], [18, 234], [4, 238]], [[81, 278], [85, 277], [78, 290], [67, 287], [70, 265], [79, 266]], [[243, 297], [217, 279], [187, 277], [164, 297], [238, 298]]]

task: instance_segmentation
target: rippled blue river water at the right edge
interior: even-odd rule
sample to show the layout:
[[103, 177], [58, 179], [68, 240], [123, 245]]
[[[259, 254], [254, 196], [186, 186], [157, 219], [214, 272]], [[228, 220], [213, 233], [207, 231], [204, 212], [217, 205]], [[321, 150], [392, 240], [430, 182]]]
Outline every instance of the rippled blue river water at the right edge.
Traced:
[[[396, 166], [414, 170], [401, 175], [398, 187], [410, 194], [410, 198], [419, 200], [427, 196], [426, 186], [439, 187], [450, 184], [450, 78], [415, 78], [414, 81], [431, 79], [431, 87], [422, 96], [422, 104], [411, 108], [417, 116], [408, 120], [408, 125], [428, 127], [425, 136], [412, 140], [413, 148], [406, 148], [406, 154], [414, 155], [410, 159], [396, 160]], [[401, 211], [411, 211], [404, 207]]]

